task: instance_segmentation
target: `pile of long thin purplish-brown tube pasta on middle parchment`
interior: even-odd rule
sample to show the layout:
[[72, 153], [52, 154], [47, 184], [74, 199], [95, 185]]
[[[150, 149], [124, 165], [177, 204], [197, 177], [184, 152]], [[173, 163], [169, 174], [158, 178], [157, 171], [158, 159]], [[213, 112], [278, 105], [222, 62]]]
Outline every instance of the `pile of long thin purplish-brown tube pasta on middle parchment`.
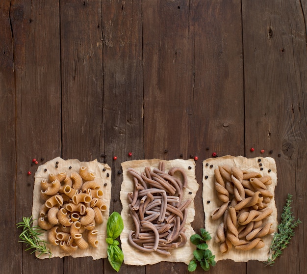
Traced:
[[[182, 201], [187, 187], [187, 175], [182, 168], [173, 167], [165, 172], [163, 162], [159, 168], [145, 167], [139, 174], [128, 168], [134, 181], [134, 191], [128, 193], [129, 216], [133, 219], [135, 231], [130, 231], [128, 243], [142, 252], [157, 252], [170, 255], [173, 248], [182, 247], [187, 239], [185, 221], [191, 199]], [[179, 180], [173, 176], [182, 174]]]

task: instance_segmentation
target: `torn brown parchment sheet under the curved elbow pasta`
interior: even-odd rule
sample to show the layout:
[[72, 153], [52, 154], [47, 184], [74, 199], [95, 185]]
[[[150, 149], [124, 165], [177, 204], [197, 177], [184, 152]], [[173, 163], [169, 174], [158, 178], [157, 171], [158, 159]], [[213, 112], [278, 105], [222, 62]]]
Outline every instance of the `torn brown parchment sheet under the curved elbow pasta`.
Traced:
[[[58, 162], [58, 168], [55, 167], [55, 162]], [[101, 164], [97, 162], [97, 160], [94, 160], [92, 162], [79, 162], [77, 159], [69, 159], [69, 160], [63, 160], [60, 157], [57, 157], [51, 161], [46, 162], [45, 164], [40, 165], [37, 168], [37, 171], [35, 172], [35, 181], [34, 181], [34, 191], [33, 191], [33, 207], [32, 207], [32, 215], [33, 219], [39, 218], [39, 209], [41, 205], [44, 203], [43, 200], [40, 198], [40, 183], [43, 179], [48, 179], [49, 174], [57, 174], [59, 172], [66, 172], [68, 175], [70, 175], [72, 172], [79, 172], [80, 167], [84, 165], [86, 166], [89, 171], [93, 172], [95, 174], [95, 181], [100, 184], [101, 189], [103, 191], [102, 200], [107, 206], [107, 210], [102, 212], [103, 216], [103, 223], [96, 226], [96, 229], [98, 230], [98, 241], [99, 246], [97, 248], [95, 247], [89, 247], [86, 250], [77, 249], [77, 251], [73, 253], [67, 253], [64, 252], [60, 247], [58, 246], [52, 246], [50, 244], [47, 244], [47, 247], [50, 248], [52, 252], [51, 257], [64, 257], [64, 256], [72, 256], [72, 257], [85, 257], [85, 256], [92, 256], [94, 260], [100, 259], [100, 258], [106, 258], [107, 257], [107, 244], [105, 242], [106, 239], [106, 222], [109, 217], [109, 208], [110, 208], [110, 199], [111, 199], [111, 168], [107, 164]], [[69, 167], [72, 167], [71, 169]], [[45, 172], [45, 168], [47, 168], [47, 171]], [[105, 171], [102, 169], [105, 168]], [[109, 174], [109, 177], [107, 177], [107, 173]], [[104, 184], [107, 184], [104, 186]], [[37, 225], [37, 220], [33, 222], [34, 225]], [[44, 234], [41, 236], [41, 239], [48, 242], [47, 232], [44, 232]], [[36, 257], [39, 254], [36, 253]], [[42, 254], [39, 256], [40, 259], [49, 258], [48, 255]]]

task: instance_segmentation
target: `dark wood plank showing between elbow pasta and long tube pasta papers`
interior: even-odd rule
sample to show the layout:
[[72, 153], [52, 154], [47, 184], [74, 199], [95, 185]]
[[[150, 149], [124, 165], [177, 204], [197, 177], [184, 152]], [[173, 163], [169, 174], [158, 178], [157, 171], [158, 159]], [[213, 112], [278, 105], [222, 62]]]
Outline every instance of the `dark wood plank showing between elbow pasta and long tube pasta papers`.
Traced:
[[[102, 161], [112, 168], [110, 212], [121, 212], [121, 162], [143, 159], [143, 73], [141, 6], [137, 1], [102, 1], [103, 137]], [[132, 156], [128, 156], [131, 152]], [[116, 156], [117, 160], [113, 160]], [[116, 273], [109, 263], [104, 273]], [[145, 273], [122, 265], [120, 273]]]

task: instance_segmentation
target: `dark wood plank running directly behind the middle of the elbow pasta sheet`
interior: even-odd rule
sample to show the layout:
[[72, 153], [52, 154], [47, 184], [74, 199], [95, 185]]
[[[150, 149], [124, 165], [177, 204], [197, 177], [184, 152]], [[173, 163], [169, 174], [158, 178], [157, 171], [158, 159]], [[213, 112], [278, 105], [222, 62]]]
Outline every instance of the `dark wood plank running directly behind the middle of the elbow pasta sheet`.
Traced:
[[[61, 1], [60, 22], [62, 157], [99, 160], [103, 99], [101, 1]], [[64, 273], [89, 274], [97, 270], [103, 270], [103, 259], [64, 257]]]

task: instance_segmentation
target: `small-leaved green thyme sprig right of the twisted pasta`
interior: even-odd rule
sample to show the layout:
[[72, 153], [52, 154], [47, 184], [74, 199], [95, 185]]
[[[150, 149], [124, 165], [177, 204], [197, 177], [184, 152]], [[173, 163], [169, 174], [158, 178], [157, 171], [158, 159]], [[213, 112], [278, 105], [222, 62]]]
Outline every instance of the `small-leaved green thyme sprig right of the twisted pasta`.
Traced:
[[288, 246], [291, 238], [294, 236], [294, 228], [301, 220], [295, 220], [291, 212], [292, 195], [288, 194], [286, 204], [281, 213], [281, 223], [277, 225], [277, 232], [274, 233], [273, 240], [269, 250], [269, 258], [266, 265], [273, 266], [277, 257], [282, 254], [282, 250]]

